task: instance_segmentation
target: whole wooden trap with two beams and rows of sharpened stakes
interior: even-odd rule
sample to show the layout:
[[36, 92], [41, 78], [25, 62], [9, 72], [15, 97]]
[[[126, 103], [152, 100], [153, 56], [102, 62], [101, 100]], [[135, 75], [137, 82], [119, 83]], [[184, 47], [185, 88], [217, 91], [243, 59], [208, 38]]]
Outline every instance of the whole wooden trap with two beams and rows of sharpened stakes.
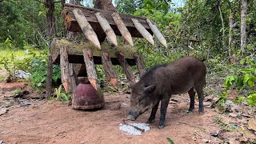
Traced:
[[[73, 93], [78, 76], [87, 76], [97, 89], [95, 64], [102, 64], [106, 78], [118, 89], [118, 75], [113, 65], [121, 65], [130, 83], [135, 82], [130, 66], [137, 65], [140, 75], [145, 70], [134, 47], [134, 38], [146, 38], [154, 45], [152, 34], [166, 46], [166, 39], [158, 28], [146, 18], [118, 14], [109, 0], [97, 0], [94, 8], [65, 4], [62, 15], [66, 30], [83, 33], [88, 42], [54, 38], [51, 55], [61, 65], [62, 84], [66, 92]], [[118, 45], [117, 35], [129, 44]], [[104, 42], [105, 39], [110, 42]]]

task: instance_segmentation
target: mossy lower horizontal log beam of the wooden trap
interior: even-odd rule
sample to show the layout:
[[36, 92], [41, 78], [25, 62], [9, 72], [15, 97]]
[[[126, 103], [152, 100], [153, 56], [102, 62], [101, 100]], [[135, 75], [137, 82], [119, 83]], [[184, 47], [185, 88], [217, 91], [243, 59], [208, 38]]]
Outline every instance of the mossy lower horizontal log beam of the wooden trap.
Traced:
[[[84, 63], [82, 50], [85, 48], [90, 49], [93, 52], [94, 56], [94, 64], [102, 64], [102, 54], [101, 50], [98, 50], [94, 44], [90, 42], [74, 42], [66, 39], [58, 39], [54, 38], [51, 43], [51, 54], [53, 57], [53, 62], [55, 64], [59, 64], [60, 62], [60, 49], [65, 46], [66, 52], [68, 54], [70, 63]], [[133, 46], [125, 45], [125, 46], [111, 46], [110, 43], [103, 42], [101, 44], [102, 50], [106, 50], [109, 53], [109, 57], [113, 65], [120, 65], [117, 60], [116, 52], [120, 51], [126, 58], [126, 61], [130, 66], [136, 65], [134, 60], [134, 53], [136, 50]]]

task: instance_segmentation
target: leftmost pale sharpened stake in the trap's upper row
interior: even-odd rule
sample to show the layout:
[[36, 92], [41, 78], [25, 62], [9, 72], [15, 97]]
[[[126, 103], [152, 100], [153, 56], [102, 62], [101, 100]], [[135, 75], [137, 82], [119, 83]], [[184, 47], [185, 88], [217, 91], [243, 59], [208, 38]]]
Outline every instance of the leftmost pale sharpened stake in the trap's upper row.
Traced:
[[86, 20], [84, 14], [82, 14], [82, 10], [74, 9], [73, 10], [74, 17], [78, 22], [78, 25], [81, 27], [82, 32], [85, 34], [86, 38], [93, 42], [98, 49], [101, 49], [101, 45], [98, 41], [97, 34], [95, 34], [93, 28], [90, 26], [90, 23]]

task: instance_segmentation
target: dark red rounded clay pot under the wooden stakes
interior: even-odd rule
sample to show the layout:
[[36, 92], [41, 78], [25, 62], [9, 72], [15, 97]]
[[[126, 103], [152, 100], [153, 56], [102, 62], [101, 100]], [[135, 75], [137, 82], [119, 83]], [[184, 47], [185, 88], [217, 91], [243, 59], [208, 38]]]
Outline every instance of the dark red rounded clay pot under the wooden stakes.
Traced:
[[101, 88], [97, 90], [90, 84], [87, 77], [78, 77], [80, 82], [74, 91], [72, 108], [75, 110], [99, 109], [104, 106], [104, 97]]

